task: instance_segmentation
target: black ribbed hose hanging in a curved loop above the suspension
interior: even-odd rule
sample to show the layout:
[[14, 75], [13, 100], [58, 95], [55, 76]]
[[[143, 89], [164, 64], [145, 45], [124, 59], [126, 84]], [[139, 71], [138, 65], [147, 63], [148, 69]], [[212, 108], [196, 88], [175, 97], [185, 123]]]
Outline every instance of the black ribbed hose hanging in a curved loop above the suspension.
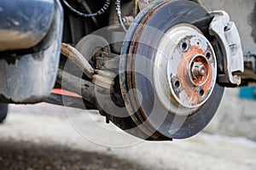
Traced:
[[92, 13], [92, 14], [84, 14], [79, 12], [77, 9], [73, 8], [69, 3], [67, 3], [66, 0], [62, 0], [62, 2], [67, 6], [67, 8], [69, 8], [70, 10], [73, 11], [73, 13], [78, 14], [79, 16], [82, 17], [94, 17], [94, 16], [98, 16], [100, 14], [103, 14], [104, 12], [106, 12], [106, 10], [109, 8], [111, 0], [106, 0], [106, 2], [104, 3], [103, 7], [101, 9], [99, 9], [96, 13]]

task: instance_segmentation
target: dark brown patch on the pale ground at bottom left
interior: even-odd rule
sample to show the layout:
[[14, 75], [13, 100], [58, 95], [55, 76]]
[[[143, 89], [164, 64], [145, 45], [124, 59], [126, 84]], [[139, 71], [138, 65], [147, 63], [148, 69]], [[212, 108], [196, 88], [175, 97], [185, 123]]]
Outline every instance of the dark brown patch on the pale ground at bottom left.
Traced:
[[1, 169], [144, 169], [131, 161], [106, 153], [73, 150], [58, 144], [27, 141], [0, 142]]

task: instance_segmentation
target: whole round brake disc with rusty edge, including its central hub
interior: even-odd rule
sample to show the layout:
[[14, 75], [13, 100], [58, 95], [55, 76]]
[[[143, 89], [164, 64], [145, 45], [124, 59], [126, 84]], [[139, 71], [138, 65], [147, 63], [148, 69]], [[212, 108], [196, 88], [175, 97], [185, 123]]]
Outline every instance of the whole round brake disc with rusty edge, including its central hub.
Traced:
[[224, 88], [216, 83], [216, 55], [207, 40], [211, 20], [196, 3], [158, 2], [130, 26], [121, 50], [121, 93], [149, 137], [188, 138], [217, 111]]

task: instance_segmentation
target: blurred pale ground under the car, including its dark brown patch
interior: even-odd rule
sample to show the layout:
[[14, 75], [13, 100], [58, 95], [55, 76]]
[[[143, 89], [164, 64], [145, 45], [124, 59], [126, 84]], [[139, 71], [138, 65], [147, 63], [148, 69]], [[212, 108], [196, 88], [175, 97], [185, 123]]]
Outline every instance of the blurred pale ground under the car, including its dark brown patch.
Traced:
[[146, 142], [95, 113], [47, 104], [11, 105], [0, 126], [0, 169], [253, 170], [256, 143], [206, 133]]

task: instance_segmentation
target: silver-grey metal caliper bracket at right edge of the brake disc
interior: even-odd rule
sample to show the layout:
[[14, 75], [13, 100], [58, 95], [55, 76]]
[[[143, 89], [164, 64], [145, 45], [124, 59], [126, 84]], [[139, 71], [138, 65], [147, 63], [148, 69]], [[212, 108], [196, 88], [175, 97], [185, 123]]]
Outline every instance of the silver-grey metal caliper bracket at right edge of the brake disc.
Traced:
[[216, 37], [224, 55], [224, 74], [218, 75], [219, 82], [233, 87], [241, 84], [236, 72], [244, 71], [241, 39], [236, 24], [230, 21], [230, 15], [224, 11], [211, 12], [214, 17], [209, 27], [210, 35]]

